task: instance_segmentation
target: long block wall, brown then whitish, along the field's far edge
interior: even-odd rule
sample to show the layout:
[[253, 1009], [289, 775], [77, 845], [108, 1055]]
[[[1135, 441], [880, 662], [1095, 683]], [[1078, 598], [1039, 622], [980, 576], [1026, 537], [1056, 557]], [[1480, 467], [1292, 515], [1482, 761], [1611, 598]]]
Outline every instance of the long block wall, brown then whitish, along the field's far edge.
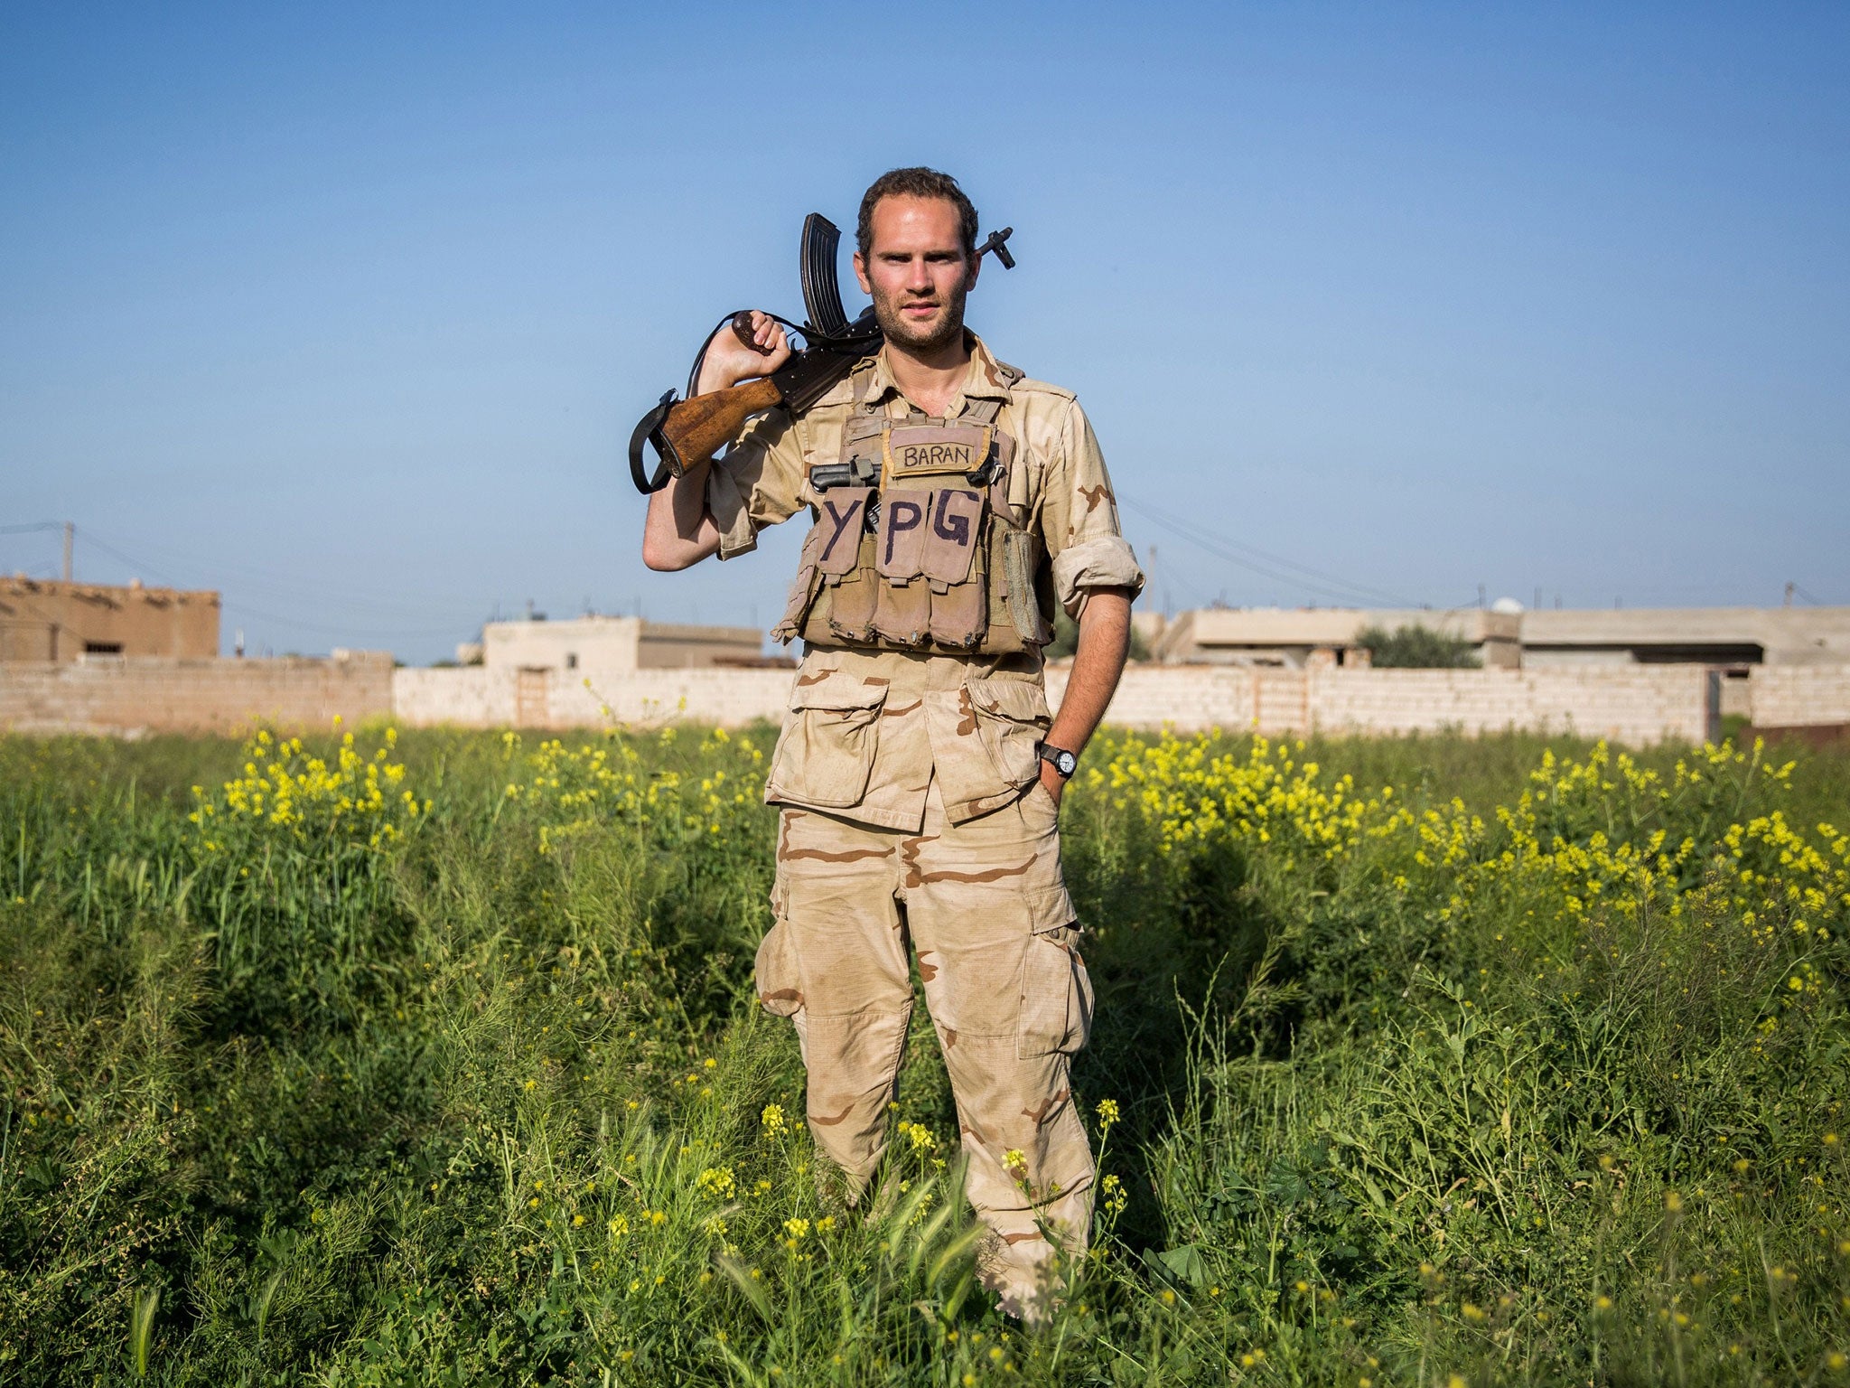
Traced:
[[[1058, 707], [1066, 670], [1047, 672]], [[405, 727], [601, 727], [777, 722], [788, 670], [392, 670], [390, 657], [85, 659], [0, 666], [0, 731], [237, 733], [253, 718], [326, 729], [390, 716]], [[1850, 724], [1850, 666], [1759, 666], [1759, 727]], [[605, 713], [609, 709], [609, 713]], [[1275, 670], [1132, 666], [1106, 714], [1121, 727], [1208, 727], [1267, 737], [1521, 727], [1626, 746], [1700, 742], [1709, 674], [1702, 666], [1545, 670]]]

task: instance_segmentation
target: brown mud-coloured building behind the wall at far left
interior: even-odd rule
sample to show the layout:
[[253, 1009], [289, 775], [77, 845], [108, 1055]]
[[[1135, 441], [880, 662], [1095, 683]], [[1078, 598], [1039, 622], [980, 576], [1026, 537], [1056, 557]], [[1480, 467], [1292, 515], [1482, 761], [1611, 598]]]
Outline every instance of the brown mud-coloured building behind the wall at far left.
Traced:
[[0, 663], [109, 655], [218, 655], [218, 594], [0, 579]]

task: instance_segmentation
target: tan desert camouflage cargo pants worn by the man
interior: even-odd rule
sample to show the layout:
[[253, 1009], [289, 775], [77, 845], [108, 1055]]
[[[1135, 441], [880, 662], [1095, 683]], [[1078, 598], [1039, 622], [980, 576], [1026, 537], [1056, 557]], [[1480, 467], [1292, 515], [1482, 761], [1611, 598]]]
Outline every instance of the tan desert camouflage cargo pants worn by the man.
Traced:
[[1092, 1029], [1092, 983], [1038, 783], [951, 824], [932, 785], [921, 833], [784, 809], [777, 922], [758, 999], [796, 1022], [816, 1146], [858, 1194], [886, 1149], [912, 1016], [910, 951], [956, 1094], [968, 1194], [990, 1227], [984, 1281], [1014, 1314], [1045, 1310], [1053, 1244], [1092, 1227], [1093, 1164], [1067, 1077]]

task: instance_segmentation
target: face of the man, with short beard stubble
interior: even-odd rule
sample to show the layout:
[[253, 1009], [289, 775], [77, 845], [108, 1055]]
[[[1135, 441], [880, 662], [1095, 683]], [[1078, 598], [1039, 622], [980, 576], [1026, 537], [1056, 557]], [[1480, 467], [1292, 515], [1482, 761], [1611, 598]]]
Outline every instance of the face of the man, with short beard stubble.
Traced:
[[964, 296], [977, 265], [964, 255], [947, 198], [886, 196], [873, 205], [873, 246], [855, 252], [855, 278], [873, 296], [886, 341], [914, 353], [962, 341]]

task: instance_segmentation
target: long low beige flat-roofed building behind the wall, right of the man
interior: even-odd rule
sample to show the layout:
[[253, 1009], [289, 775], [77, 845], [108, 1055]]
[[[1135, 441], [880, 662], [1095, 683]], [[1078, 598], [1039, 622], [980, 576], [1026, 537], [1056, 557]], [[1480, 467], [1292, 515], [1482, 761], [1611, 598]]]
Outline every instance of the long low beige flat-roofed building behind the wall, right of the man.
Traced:
[[1153, 651], [1171, 664], [1367, 664], [1367, 627], [1424, 626], [1473, 642], [1486, 668], [1850, 663], [1850, 607], [1491, 609], [1238, 607], [1182, 613]]

